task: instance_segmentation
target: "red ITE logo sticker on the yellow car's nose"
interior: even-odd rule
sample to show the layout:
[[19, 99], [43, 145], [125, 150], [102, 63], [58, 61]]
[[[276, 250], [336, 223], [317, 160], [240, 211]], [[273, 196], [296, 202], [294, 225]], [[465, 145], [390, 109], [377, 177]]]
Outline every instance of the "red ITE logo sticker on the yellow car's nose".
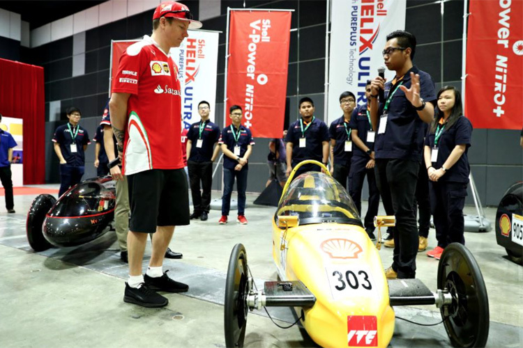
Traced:
[[349, 315], [347, 317], [349, 347], [377, 347], [378, 325], [376, 317]]

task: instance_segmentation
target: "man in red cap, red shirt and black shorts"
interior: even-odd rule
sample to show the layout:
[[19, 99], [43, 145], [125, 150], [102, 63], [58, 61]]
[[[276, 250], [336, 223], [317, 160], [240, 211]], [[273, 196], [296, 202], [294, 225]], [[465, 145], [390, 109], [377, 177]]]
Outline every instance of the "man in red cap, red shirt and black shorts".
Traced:
[[[131, 219], [127, 237], [129, 280], [123, 301], [144, 307], [166, 306], [156, 291], [185, 292], [188, 285], [162, 271], [175, 226], [189, 224], [189, 196], [183, 170], [181, 88], [169, 54], [202, 23], [187, 6], [161, 3], [153, 15], [153, 33], [130, 45], [121, 56], [109, 111], [119, 157], [127, 176]], [[142, 260], [147, 234], [154, 233], [145, 276]]]

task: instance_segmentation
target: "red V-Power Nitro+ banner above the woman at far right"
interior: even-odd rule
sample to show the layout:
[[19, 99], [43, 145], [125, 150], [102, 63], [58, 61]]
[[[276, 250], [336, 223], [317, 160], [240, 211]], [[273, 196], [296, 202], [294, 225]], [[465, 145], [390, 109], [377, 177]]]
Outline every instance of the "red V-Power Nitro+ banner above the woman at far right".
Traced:
[[475, 128], [522, 129], [523, 0], [471, 0], [465, 114]]

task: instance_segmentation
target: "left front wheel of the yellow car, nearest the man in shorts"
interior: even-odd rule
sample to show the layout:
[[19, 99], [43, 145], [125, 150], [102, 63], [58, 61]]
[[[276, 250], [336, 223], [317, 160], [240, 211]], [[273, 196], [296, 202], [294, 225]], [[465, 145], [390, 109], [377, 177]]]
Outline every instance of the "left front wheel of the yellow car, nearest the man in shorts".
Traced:
[[243, 347], [248, 313], [247, 253], [243, 244], [232, 248], [225, 284], [225, 346]]

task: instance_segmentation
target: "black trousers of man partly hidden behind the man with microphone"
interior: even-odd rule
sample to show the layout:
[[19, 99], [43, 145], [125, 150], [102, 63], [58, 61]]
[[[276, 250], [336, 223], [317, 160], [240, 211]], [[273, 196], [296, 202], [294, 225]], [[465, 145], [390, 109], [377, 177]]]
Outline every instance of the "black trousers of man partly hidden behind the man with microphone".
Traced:
[[367, 214], [365, 214], [365, 219], [363, 220], [363, 226], [365, 226], [365, 230], [374, 230], [374, 216], [378, 214], [379, 208], [379, 191], [376, 185], [374, 168], [365, 168], [368, 161], [368, 157], [352, 157], [351, 170], [349, 173], [349, 193], [361, 216], [361, 190], [363, 189], [363, 182], [365, 181], [366, 175], [369, 186], [369, 205], [367, 207]]

